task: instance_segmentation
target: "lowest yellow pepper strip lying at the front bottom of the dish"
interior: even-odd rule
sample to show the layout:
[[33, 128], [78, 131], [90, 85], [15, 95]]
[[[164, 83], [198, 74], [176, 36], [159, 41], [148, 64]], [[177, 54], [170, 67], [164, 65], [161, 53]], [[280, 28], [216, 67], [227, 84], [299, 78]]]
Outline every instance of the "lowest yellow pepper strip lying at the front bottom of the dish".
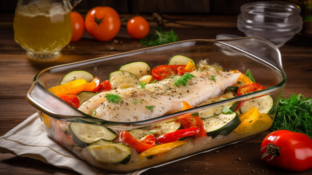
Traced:
[[177, 147], [177, 146], [181, 146], [183, 144], [185, 144], [185, 141], [174, 141], [174, 142], [170, 142], [170, 143], [165, 143], [162, 145], [157, 145], [154, 146], [152, 148], [149, 148], [147, 150], [145, 150], [144, 152], [139, 154], [139, 158], [142, 159], [143, 157], [147, 157], [150, 155], [155, 155], [155, 154], [159, 154], [159, 153], [164, 153], [166, 151], [169, 151], [170, 149]]

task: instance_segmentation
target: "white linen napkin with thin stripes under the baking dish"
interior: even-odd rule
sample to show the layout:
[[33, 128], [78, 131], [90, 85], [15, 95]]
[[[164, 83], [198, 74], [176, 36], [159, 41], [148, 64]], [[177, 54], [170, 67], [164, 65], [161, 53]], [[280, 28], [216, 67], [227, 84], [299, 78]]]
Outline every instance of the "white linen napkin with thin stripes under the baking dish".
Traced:
[[[213, 148], [201, 153], [206, 153], [217, 148]], [[69, 150], [52, 140], [46, 134], [46, 129], [44, 128], [43, 122], [41, 122], [37, 113], [33, 114], [21, 124], [17, 125], [15, 128], [7, 132], [7, 134], [0, 137], [0, 153], [11, 153], [21, 157], [34, 158], [56, 167], [73, 170], [83, 175], [112, 174], [90, 166], [89, 164], [82, 161], [80, 158], [76, 157], [76, 155], [71, 153]], [[151, 168], [161, 167], [163, 165], [189, 158], [194, 155], [196, 154], [180, 158], [171, 162], [163, 163], [161, 165], [157, 165]], [[150, 168], [146, 168], [132, 173], [113, 174], [139, 175], [148, 169]]]

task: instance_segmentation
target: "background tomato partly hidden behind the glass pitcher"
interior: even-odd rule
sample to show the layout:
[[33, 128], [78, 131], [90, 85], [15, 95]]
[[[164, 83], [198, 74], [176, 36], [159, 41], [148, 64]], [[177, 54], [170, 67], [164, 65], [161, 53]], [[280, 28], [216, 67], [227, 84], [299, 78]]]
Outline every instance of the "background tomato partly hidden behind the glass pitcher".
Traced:
[[71, 12], [71, 25], [73, 28], [71, 42], [80, 40], [83, 33], [85, 32], [85, 21], [78, 12]]

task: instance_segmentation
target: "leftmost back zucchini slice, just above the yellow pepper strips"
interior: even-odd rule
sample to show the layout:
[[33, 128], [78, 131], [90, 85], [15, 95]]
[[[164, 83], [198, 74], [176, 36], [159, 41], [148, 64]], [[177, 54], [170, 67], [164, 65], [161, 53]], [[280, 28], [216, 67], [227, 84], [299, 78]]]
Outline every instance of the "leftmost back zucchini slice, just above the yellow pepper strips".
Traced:
[[74, 81], [74, 80], [80, 80], [84, 79], [88, 83], [91, 82], [94, 79], [94, 76], [85, 70], [74, 70], [71, 72], [68, 72], [66, 75], [63, 76], [63, 79], [60, 82], [60, 85], [63, 85], [65, 83]]

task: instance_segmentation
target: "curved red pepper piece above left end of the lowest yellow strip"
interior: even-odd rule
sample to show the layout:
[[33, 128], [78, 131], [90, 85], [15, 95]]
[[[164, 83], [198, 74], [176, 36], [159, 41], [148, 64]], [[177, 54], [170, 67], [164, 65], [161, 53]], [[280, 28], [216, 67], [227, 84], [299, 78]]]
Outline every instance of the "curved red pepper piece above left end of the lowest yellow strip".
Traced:
[[127, 131], [123, 131], [120, 133], [120, 137], [124, 139], [124, 142], [131, 145], [139, 153], [152, 148], [155, 145], [155, 138], [152, 134], [145, 136], [141, 140], [137, 140]]

